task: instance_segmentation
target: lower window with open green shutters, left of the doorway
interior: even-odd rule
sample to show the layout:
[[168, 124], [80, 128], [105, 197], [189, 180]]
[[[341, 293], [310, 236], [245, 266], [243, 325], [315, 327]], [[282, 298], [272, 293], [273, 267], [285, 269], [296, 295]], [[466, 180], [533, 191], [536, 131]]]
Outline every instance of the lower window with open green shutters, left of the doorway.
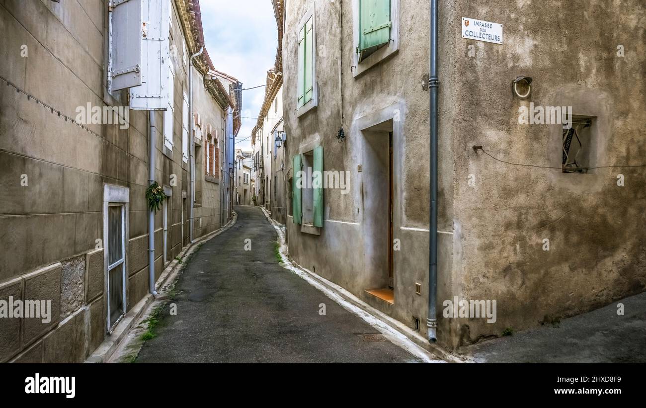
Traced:
[[301, 232], [320, 235], [323, 227], [323, 147], [296, 154], [292, 165], [293, 222], [301, 225]]

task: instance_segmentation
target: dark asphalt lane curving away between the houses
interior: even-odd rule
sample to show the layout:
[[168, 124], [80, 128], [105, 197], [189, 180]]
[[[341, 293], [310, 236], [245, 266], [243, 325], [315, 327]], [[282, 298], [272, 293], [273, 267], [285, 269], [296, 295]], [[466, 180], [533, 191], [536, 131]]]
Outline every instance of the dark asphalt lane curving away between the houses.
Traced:
[[189, 259], [136, 362], [419, 362], [280, 267], [276, 232], [260, 207], [235, 210], [236, 224]]

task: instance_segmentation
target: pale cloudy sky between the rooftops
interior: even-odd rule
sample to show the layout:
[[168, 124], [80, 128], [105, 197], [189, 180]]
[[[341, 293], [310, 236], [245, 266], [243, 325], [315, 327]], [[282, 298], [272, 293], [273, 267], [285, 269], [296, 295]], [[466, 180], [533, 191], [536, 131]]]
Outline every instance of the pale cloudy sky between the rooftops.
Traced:
[[[206, 48], [216, 70], [238, 78], [243, 88], [264, 85], [276, 57], [276, 19], [271, 0], [200, 0]], [[251, 129], [265, 87], [242, 91], [242, 128], [236, 148], [251, 150]], [[253, 119], [246, 119], [253, 117]]]

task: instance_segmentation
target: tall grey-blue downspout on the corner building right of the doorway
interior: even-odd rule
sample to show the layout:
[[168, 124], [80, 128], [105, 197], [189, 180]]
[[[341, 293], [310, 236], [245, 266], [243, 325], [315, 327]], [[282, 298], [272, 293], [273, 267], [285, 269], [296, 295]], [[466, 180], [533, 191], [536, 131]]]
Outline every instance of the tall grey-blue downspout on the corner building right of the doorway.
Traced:
[[430, 127], [430, 214], [428, 253], [428, 342], [437, 342], [437, 0], [430, 0], [430, 72], [428, 76]]

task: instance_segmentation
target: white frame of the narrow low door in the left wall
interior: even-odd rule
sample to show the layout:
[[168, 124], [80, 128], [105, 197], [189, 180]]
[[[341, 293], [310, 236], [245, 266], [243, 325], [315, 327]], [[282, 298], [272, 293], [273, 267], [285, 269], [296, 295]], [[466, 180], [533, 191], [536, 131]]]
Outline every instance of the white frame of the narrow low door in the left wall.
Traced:
[[[105, 296], [103, 303], [105, 305], [106, 313], [106, 331], [112, 333], [117, 323], [125, 316], [128, 309], [127, 305], [127, 279], [126, 271], [128, 265], [128, 213], [130, 203], [130, 189], [128, 187], [121, 187], [118, 185], [104, 184], [103, 185], [103, 272], [104, 272], [104, 287]], [[123, 248], [123, 258], [109, 265], [109, 219], [108, 212], [110, 207], [121, 207], [121, 245]], [[123, 314], [116, 320], [110, 321], [110, 270], [121, 267], [121, 278], [123, 280], [122, 302]]]

